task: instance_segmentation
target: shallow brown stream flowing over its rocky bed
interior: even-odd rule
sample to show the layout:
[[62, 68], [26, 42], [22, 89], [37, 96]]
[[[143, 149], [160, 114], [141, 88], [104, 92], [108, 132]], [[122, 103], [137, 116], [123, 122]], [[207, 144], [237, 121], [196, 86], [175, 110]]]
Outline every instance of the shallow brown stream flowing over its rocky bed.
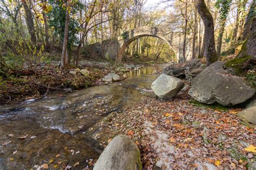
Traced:
[[78, 161], [78, 169], [90, 165], [103, 146], [86, 131], [111, 112], [142, 100], [157, 77], [156, 68], [166, 66], [131, 70], [127, 79], [113, 84], [0, 106], [0, 169], [61, 168]]

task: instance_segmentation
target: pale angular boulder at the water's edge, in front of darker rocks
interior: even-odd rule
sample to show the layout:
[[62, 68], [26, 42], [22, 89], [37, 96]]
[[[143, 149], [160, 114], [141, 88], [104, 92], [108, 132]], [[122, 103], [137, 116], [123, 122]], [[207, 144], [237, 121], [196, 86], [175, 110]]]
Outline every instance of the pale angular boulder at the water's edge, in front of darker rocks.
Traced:
[[179, 93], [184, 83], [177, 77], [161, 74], [152, 84], [151, 89], [159, 98], [171, 98]]

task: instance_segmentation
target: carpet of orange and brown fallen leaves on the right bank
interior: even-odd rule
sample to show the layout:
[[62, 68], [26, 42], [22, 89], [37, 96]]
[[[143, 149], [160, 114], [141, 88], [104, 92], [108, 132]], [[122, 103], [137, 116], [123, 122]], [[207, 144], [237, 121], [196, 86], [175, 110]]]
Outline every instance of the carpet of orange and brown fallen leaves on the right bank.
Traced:
[[[150, 125], [145, 125], [145, 122]], [[116, 124], [122, 124], [123, 127], [113, 128]], [[218, 168], [243, 169], [245, 161], [240, 163], [239, 159], [235, 160], [227, 151], [232, 144], [239, 146], [238, 152], [245, 158], [254, 159], [254, 155], [249, 154], [252, 152], [245, 155], [242, 149], [245, 146], [241, 146], [250, 141], [252, 143], [255, 129], [241, 125], [237, 116], [228, 110], [195, 107], [184, 98], [177, 97], [172, 102], [147, 98], [123, 114], [113, 116], [109, 124], [100, 124], [103, 129], [107, 126], [111, 127], [107, 128], [111, 137], [114, 129], [115, 134], [123, 133], [136, 141], [144, 167], [149, 169], [159, 159], [165, 165], [171, 164], [173, 169], [188, 169], [188, 164], [201, 167], [206, 163]], [[145, 133], [149, 128], [152, 132]], [[159, 132], [169, 135], [166, 137], [167, 145], [174, 147], [173, 152], [176, 153], [174, 156], [169, 155], [168, 163], [164, 157], [167, 154], [164, 148], [166, 143]], [[157, 145], [159, 143], [162, 145]], [[172, 157], [174, 159], [170, 161]]]

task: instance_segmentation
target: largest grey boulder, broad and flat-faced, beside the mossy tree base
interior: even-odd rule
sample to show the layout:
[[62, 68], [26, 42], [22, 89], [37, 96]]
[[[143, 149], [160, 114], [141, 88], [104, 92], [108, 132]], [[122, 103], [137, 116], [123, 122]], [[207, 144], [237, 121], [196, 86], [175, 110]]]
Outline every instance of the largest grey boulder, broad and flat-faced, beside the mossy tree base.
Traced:
[[254, 89], [247, 86], [241, 77], [227, 73], [225, 62], [214, 62], [197, 77], [188, 94], [201, 103], [218, 102], [224, 106], [243, 103], [254, 95]]

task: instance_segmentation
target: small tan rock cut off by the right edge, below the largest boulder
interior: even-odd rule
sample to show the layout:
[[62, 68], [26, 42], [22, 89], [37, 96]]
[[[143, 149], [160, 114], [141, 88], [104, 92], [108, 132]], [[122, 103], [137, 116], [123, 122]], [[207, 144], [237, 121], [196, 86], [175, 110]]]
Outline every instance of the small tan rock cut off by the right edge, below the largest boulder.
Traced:
[[242, 121], [256, 125], [256, 106], [240, 111], [237, 116]]

